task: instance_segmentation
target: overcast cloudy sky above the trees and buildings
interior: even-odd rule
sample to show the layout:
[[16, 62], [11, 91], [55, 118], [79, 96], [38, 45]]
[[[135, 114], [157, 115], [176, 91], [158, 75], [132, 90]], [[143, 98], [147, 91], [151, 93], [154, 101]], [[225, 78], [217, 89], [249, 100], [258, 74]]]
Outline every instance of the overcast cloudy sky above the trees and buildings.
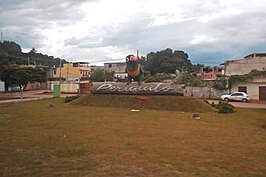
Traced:
[[219, 65], [266, 52], [265, 0], [0, 0], [0, 31], [24, 52], [124, 61], [166, 48]]

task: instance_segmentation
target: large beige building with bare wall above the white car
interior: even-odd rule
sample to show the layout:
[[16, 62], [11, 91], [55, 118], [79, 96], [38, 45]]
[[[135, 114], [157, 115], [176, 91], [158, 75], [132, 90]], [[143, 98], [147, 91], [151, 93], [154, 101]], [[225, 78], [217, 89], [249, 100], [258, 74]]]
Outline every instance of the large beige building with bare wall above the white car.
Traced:
[[251, 70], [266, 68], [266, 53], [252, 53], [239, 60], [228, 60], [224, 63], [225, 75], [243, 75]]

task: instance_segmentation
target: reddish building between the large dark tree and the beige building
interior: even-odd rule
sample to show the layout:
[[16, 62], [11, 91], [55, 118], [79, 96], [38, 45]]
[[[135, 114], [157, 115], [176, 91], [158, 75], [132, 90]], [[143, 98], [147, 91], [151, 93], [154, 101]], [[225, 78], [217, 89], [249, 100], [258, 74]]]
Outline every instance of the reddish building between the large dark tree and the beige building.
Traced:
[[203, 80], [216, 80], [217, 77], [224, 75], [223, 67], [202, 67], [196, 74], [197, 77], [202, 77]]

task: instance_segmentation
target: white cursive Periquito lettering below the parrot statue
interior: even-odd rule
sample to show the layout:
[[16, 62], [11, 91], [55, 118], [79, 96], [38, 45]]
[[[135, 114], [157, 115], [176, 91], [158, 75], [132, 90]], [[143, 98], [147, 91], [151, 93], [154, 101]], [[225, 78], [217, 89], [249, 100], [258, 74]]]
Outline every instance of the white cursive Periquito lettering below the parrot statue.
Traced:
[[170, 86], [164, 86], [162, 83], [159, 84], [152, 84], [149, 86], [126, 86], [125, 88], [121, 88], [117, 85], [113, 85], [110, 83], [102, 84], [97, 88], [97, 91], [110, 91], [110, 92], [168, 92], [170, 90], [173, 90]]

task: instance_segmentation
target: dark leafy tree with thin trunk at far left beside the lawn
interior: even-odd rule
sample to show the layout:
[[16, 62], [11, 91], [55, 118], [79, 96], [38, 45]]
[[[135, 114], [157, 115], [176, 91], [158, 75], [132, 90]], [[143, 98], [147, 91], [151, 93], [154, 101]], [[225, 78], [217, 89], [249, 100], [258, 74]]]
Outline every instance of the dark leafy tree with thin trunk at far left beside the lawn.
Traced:
[[21, 91], [21, 99], [23, 98], [23, 90], [29, 82], [45, 82], [46, 71], [39, 67], [20, 67], [19, 65], [9, 65], [2, 72], [2, 80], [8, 86], [18, 85]]

